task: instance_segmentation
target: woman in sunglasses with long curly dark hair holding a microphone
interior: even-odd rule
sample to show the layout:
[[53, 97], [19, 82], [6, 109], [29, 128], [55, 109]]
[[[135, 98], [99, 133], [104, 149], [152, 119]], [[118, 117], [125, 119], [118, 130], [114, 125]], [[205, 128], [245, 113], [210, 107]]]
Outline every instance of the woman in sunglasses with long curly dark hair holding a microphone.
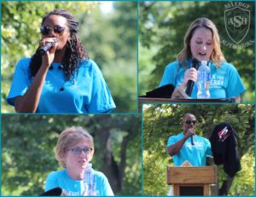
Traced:
[[[108, 113], [115, 108], [102, 72], [79, 40], [66, 10], [46, 14], [32, 58], [21, 59], [7, 101], [18, 113]], [[49, 48], [42, 55], [43, 48]], [[47, 49], [43, 49], [44, 51]]]

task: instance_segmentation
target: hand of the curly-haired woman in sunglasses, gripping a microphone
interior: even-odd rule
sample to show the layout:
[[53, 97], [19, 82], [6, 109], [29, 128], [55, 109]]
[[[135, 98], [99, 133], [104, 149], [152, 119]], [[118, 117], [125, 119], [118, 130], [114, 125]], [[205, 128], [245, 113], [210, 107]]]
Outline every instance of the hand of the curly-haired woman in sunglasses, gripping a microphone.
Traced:
[[[44, 46], [46, 43], [55, 42], [55, 38], [44, 38], [40, 41], [40, 47]], [[58, 43], [55, 42], [55, 45], [46, 51], [45, 55], [42, 56], [42, 66], [49, 67], [50, 64], [55, 59], [55, 49], [57, 49]]]

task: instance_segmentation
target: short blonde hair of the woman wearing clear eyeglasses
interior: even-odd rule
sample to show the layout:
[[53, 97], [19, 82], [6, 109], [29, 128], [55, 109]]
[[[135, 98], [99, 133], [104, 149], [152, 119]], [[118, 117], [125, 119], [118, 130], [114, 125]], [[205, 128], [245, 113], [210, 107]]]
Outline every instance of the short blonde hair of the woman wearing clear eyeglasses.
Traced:
[[55, 158], [58, 160], [62, 167], [66, 167], [66, 164], [63, 160], [64, 155], [67, 150], [73, 146], [74, 143], [79, 142], [81, 137], [88, 139], [90, 143], [90, 148], [92, 148], [91, 154], [94, 153], [94, 142], [93, 137], [90, 136], [87, 130], [84, 130], [82, 127], [69, 127], [66, 130], [61, 132], [61, 135], [58, 138], [58, 142], [55, 146]]

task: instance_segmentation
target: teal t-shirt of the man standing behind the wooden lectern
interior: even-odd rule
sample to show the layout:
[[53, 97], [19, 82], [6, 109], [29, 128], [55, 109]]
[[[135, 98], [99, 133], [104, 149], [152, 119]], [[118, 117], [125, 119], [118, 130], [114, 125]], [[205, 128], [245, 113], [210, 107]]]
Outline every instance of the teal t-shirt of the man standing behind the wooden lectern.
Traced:
[[[183, 136], [183, 133], [180, 133], [177, 136], [170, 136], [167, 142], [167, 147], [180, 141]], [[207, 155], [212, 155], [211, 143], [207, 138], [195, 135], [195, 145], [191, 144], [190, 139], [191, 138], [187, 139], [177, 154], [172, 155], [175, 166], [182, 165], [186, 160], [189, 160], [191, 165], [206, 165]]]

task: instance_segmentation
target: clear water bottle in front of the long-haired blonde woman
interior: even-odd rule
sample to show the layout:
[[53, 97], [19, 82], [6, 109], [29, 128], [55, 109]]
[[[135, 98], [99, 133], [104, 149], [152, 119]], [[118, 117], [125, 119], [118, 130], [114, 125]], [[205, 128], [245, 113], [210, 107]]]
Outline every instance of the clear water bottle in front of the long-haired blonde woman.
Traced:
[[197, 98], [210, 98], [211, 70], [207, 67], [207, 61], [201, 61], [201, 66], [197, 70]]

